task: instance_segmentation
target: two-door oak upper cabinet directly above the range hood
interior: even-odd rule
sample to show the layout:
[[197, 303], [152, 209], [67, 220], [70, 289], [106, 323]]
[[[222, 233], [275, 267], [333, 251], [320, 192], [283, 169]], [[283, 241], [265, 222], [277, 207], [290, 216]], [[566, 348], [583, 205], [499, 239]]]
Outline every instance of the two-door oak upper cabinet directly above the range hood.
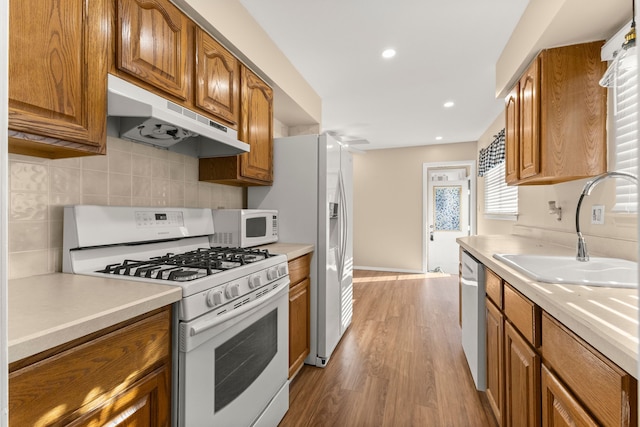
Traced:
[[168, 0], [118, 0], [111, 72], [233, 129], [240, 62]]

